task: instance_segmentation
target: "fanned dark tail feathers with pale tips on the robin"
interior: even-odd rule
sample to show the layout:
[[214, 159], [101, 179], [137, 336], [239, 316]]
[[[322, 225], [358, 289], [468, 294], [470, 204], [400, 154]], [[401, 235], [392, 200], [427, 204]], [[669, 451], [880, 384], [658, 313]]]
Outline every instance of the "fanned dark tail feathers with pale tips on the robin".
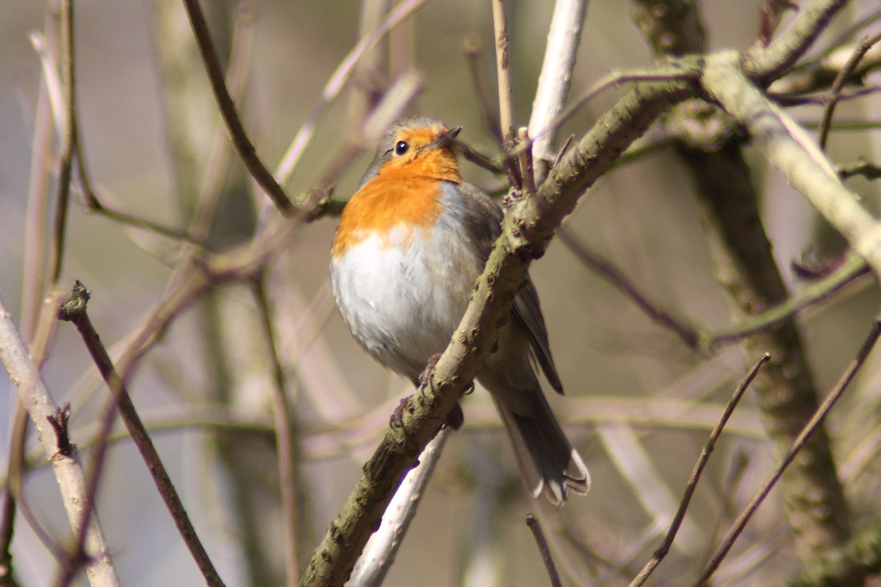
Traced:
[[529, 398], [529, 415], [496, 404], [514, 445], [523, 485], [533, 497], [544, 492], [554, 505], [566, 502], [570, 490], [576, 494], [588, 493], [588, 468], [563, 434], [544, 394], [539, 390], [529, 394]]

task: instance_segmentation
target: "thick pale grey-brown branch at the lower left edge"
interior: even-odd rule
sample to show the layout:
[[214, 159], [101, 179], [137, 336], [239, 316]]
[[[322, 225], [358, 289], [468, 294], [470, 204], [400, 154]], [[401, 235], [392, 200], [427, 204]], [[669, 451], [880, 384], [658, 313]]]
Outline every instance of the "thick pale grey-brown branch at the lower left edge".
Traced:
[[[37, 431], [43, 451], [55, 472], [58, 487], [61, 488], [64, 509], [70, 519], [74, 533], [79, 531], [82, 509], [85, 503], [85, 477], [73, 452], [64, 454], [59, 450], [59, 439], [50, 421], [56, 420], [58, 412], [49, 398], [39, 370], [33, 364], [27, 347], [12, 323], [11, 315], [0, 301], [0, 361], [9, 372], [11, 382], [19, 391], [19, 400], [25, 405]], [[98, 517], [89, 516], [89, 526], [85, 536], [85, 567], [90, 582], [101, 587], [119, 584], [113, 561], [101, 533]]]

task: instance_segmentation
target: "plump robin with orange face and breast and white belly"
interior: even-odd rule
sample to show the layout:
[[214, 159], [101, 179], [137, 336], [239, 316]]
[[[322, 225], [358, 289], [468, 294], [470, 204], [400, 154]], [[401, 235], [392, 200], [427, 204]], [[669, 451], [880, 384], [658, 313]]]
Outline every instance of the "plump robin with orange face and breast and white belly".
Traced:
[[[367, 353], [418, 386], [448, 346], [501, 232], [503, 212], [464, 182], [461, 127], [427, 117], [391, 124], [345, 204], [330, 247], [330, 285], [343, 322]], [[556, 505], [586, 494], [590, 476], [544, 397], [536, 364], [563, 393], [529, 278], [477, 381], [492, 395], [524, 487]], [[462, 423], [456, 405], [448, 424]]]

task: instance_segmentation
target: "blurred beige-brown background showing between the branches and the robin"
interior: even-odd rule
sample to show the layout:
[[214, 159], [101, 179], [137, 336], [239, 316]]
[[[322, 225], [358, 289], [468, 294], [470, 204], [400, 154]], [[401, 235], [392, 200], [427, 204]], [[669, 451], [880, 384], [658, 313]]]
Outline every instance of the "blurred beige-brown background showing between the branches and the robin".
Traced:
[[[204, 4], [222, 63], [230, 63], [232, 52], [238, 68], [236, 105], [245, 127], [273, 168], [359, 41], [359, 31], [369, 23], [366, 6], [373, 3]], [[759, 30], [760, 4], [700, 3], [708, 47], [750, 47]], [[516, 0], [506, 6], [515, 123], [525, 125], [552, 3]], [[852, 3], [818, 48], [876, 9], [870, 0]], [[247, 243], [267, 215], [266, 198], [229, 152], [181, 4], [79, 0], [75, 11], [79, 132], [104, 204], [183, 230], [200, 197], [213, 189], [217, 202], [208, 240], [218, 248]], [[41, 59], [29, 35], [53, 25], [45, 3], [8, 3], [3, 12], [0, 297], [23, 321], [34, 303], [26, 288], [26, 253], [28, 242], [33, 244], [26, 227], [29, 197], [39, 191], [31, 170], [41, 108]], [[788, 15], [784, 27], [792, 18]], [[595, 0], [583, 26], [572, 96], [606, 73], [654, 62], [634, 23], [633, 4]], [[473, 83], [479, 78], [490, 103], [496, 103], [492, 39], [489, 2], [426, 2], [379, 43], [322, 110], [314, 137], [285, 183], [288, 194], [304, 197], [332, 184], [333, 197], [351, 196], [374, 148], [361, 140], [365, 101], [402, 78], [420, 88], [408, 114], [462, 125], [461, 139], [497, 155]], [[476, 55], [473, 67], [468, 51]], [[371, 59], [382, 65], [371, 70]], [[559, 145], [569, 134], [580, 137], [623, 91], [605, 92], [582, 108], [564, 125]], [[877, 119], [879, 105], [870, 96], [842, 105], [837, 116]], [[798, 108], [793, 115], [816, 123], [820, 108]], [[57, 137], [49, 142], [57, 153]], [[837, 162], [877, 160], [879, 146], [877, 132], [841, 131], [833, 132], [829, 152]], [[789, 270], [790, 263], [808, 250], [838, 252], [840, 241], [780, 175], [766, 169], [758, 152], [747, 150], [746, 156], [774, 256], [788, 288], [797, 293], [805, 284]], [[50, 195], [56, 189], [54, 169], [48, 174]], [[463, 174], [487, 190], [504, 189], [503, 179], [469, 163], [463, 164]], [[877, 185], [854, 182], [851, 187], [863, 204], [877, 208]], [[81, 190], [73, 189], [60, 285], [69, 288], [80, 279], [92, 291], [90, 316], [117, 356], [167, 293], [181, 261], [181, 243], [88, 213], [82, 201]], [[408, 383], [361, 351], [337, 316], [327, 270], [335, 226], [335, 219], [325, 217], [301, 227], [274, 256], [265, 279], [302, 448], [298, 490], [306, 557], [358, 479], [389, 413], [411, 393]], [[719, 285], [692, 180], [674, 150], [656, 150], [604, 175], [565, 226], [623, 271], [657, 308], [684, 323], [714, 331], [743, 318]], [[763, 352], [741, 344], [720, 346], [714, 353], [689, 348], [559, 240], [531, 275], [566, 388], [564, 398], [550, 399], [589, 464], [593, 487], [562, 509], [531, 500], [492, 403], [477, 390], [464, 400], [466, 426], [446, 446], [388, 585], [546, 583], [523, 523], [528, 512], [542, 521], [566, 581], [626, 584], [666, 531], [722, 406]], [[821, 396], [862, 345], [879, 301], [877, 287], [862, 278], [799, 316]], [[22, 330], [28, 329], [23, 325]], [[185, 308], [137, 363], [129, 384], [142, 418], [157, 429], [153, 439], [200, 538], [230, 585], [280, 584], [284, 572], [269, 357], [252, 288], [233, 280]], [[881, 475], [872, 458], [881, 442], [878, 367], [877, 357], [870, 357], [827, 421], [840, 472], [851, 476], [848, 499], [856, 528], [877, 519], [881, 496]], [[73, 441], [87, 446], [107, 390], [70, 324], [57, 326], [43, 375], [56, 402], [73, 405]], [[0, 390], [5, 391], [0, 402], [0, 454], [5, 455], [15, 394], [5, 377]], [[88, 462], [89, 451], [83, 452]], [[40, 466], [26, 477], [27, 502], [62, 544], [70, 530], [55, 479], [33, 438], [28, 454]], [[670, 556], [657, 571], [657, 584], [695, 576], [774, 463], [755, 398], [748, 393], [710, 460]], [[97, 507], [122, 583], [203, 582], [128, 441], [115, 442], [109, 452]], [[798, 567], [781, 512], [775, 490], [720, 569], [719, 584], [780, 582]], [[22, 584], [48, 584], [55, 576], [53, 554], [23, 520], [12, 552]], [[83, 577], [79, 581], [85, 584]]]

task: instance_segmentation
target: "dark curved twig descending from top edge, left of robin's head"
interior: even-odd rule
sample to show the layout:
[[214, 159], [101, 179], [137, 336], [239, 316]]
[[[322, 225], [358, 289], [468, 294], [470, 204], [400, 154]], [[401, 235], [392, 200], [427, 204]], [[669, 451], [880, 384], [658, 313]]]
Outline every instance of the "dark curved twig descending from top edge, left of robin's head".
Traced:
[[208, 26], [205, 24], [198, 0], [183, 0], [183, 5], [187, 9], [187, 16], [189, 17], [190, 25], [193, 27], [199, 52], [202, 54], [205, 71], [208, 73], [208, 78], [211, 81], [211, 90], [218, 101], [220, 115], [223, 116], [226, 128], [233, 139], [235, 150], [239, 153], [245, 167], [248, 168], [248, 173], [263, 188], [278, 210], [285, 214], [285, 216], [292, 215], [295, 209], [293, 204], [291, 204], [290, 198], [287, 197], [285, 190], [282, 189], [269, 170], [263, 165], [263, 161], [257, 156], [254, 145], [248, 139], [245, 128], [241, 124], [241, 119], [236, 113], [233, 99], [226, 90], [224, 72], [218, 62], [217, 54], [214, 52], [211, 34], [208, 32]]

